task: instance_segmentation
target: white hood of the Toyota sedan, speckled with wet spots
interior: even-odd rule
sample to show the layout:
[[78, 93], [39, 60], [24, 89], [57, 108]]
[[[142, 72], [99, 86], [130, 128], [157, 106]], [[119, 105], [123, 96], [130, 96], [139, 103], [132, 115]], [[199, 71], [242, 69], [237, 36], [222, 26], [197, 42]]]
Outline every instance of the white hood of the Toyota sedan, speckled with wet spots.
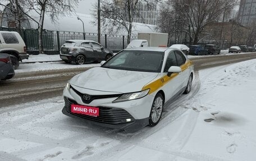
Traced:
[[92, 90], [131, 93], [140, 91], [143, 86], [156, 78], [157, 75], [158, 73], [153, 72], [94, 67], [74, 76], [70, 80], [70, 84]]

